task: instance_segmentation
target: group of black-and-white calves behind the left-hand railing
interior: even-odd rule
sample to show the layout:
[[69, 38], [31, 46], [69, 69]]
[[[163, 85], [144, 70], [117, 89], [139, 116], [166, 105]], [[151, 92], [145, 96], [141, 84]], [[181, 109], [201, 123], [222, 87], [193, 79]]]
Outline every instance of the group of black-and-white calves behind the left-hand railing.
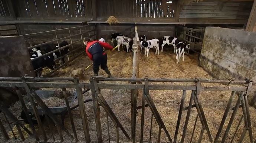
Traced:
[[[68, 45], [68, 42], [62, 41], [59, 43], [59, 45], [42, 45], [40, 47], [33, 48], [32, 50], [29, 50], [30, 59], [32, 60], [32, 66], [34, 70], [37, 70], [37, 76], [41, 76], [42, 69], [44, 67], [49, 67], [50, 71], [54, 70], [56, 68], [55, 60], [60, 58], [59, 63], [64, 64], [65, 63], [65, 56], [69, 52], [69, 47], [65, 47], [61, 50], [56, 50], [63, 46]], [[55, 52], [52, 52], [53, 50], [56, 50]], [[52, 52], [52, 53], [50, 53]], [[43, 55], [46, 53], [50, 53], [47, 55]], [[40, 58], [36, 58], [40, 57]], [[36, 59], [35, 59], [36, 58]], [[69, 56], [67, 55], [67, 58], [69, 60]]]

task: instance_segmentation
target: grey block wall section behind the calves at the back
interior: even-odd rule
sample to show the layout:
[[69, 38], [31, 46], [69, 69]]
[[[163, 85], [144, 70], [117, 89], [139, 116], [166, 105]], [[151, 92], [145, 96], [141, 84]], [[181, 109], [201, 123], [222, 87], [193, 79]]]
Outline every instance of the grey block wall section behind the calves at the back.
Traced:
[[[135, 36], [135, 24], [97, 24], [98, 36], [103, 37], [105, 40], [111, 39], [112, 33], [121, 33], [129, 38]], [[147, 39], [161, 38], [163, 36], [175, 36], [175, 26], [170, 24], [137, 24], [138, 34], [146, 35]]]

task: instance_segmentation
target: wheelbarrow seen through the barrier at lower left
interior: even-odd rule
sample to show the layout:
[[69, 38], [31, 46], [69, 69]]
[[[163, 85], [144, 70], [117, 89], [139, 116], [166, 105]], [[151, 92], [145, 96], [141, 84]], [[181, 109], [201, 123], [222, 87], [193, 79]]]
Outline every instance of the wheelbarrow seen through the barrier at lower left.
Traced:
[[[83, 94], [86, 93], [87, 91], [89, 91], [90, 89], [87, 89], [87, 90], [84, 90], [83, 91]], [[47, 97], [51, 97], [54, 95], [54, 90], [36, 90], [35, 93], [40, 97], [40, 98], [47, 98]], [[73, 102], [75, 102], [77, 98], [77, 94], [75, 93], [75, 95], [73, 96], [73, 99], [71, 100], [71, 102], [69, 103], [69, 105], [73, 104]], [[92, 99], [89, 99], [89, 100], [85, 100], [83, 101], [83, 103], [86, 103], [86, 102], [89, 102], [89, 101], [92, 101]], [[75, 105], [73, 107], [70, 108], [70, 110], [73, 110], [75, 108], [79, 107], [79, 105]], [[61, 121], [62, 121], [62, 125], [64, 126], [64, 119], [65, 119], [65, 115], [66, 113], [68, 112], [67, 110], [67, 107], [66, 106], [63, 106], [63, 107], [48, 107], [50, 109], [50, 111], [54, 114], [54, 115], [60, 115], [60, 118], [61, 118]], [[34, 125], [37, 125], [37, 120], [35, 118], [35, 115], [34, 115], [34, 111], [32, 108], [28, 108], [27, 111], [29, 112], [29, 116], [32, 120], [32, 123]], [[37, 112], [39, 114], [39, 118], [41, 119], [41, 121], [43, 122], [44, 119], [45, 119], [45, 115], [46, 115], [46, 112], [43, 111], [42, 108], [40, 107], [37, 107]], [[24, 112], [24, 110], [22, 110], [22, 112], [20, 113], [20, 121], [24, 121], [25, 123], [29, 123], [27, 118], [26, 118], [26, 114]]]

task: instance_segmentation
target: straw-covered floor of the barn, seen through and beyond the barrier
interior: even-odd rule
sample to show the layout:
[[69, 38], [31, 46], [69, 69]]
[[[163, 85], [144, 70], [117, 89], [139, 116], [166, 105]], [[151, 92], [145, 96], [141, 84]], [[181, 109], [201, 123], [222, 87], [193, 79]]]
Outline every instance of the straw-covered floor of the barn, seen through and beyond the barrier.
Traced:
[[[204, 71], [201, 67], [197, 66], [197, 57], [196, 55], [193, 55], [193, 57], [185, 55], [185, 61], [180, 62], [179, 64], [176, 64], [175, 62], [175, 54], [173, 53], [173, 50], [169, 49], [167, 51], [164, 51], [163, 53], [160, 51], [160, 55], [154, 54], [154, 49], [150, 51], [149, 57], [144, 56], [144, 54], [141, 54], [140, 57], [140, 77], [148, 76], [150, 78], [178, 78], [178, 79], [194, 79], [195, 77], [201, 77], [205, 79], [213, 79], [206, 71]], [[124, 51], [121, 52], [111, 52], [107, 51], [108, 53], [108, 67], [111, 71], [112, 75], [115, 77], [131, 77], [131, 69], [132, 69], [132, 53], [126, 53]], [[84, 69], [92, 62], [86, 57], [85, 55], [82, 55], [78, 59], [76, 59], [74, 62], [70, 63], [69, 66], [66, 68], [60, 69], [57, 71], [53, 77], [68, 77], [71, 76], [72, 71], [78, 68]], [[80, 82], [88, 82], [89, 77], [93, 74], [92, 68], [89, 68], [86, 71], [83, 71], [83, 76], [80, 76]], [[103, 70], [99, 71], [100, 75], [106, 76], [105, 72]], [[109, 83], [121, 83], [121, 82], [109, 82]], [[151, 84], [151, 83], [150, 83]], [[163, 84], [163, 83], [156, 83], [156, 84]], [[165, 83], [165, 84], [180, 84], [180, 85], [188, 85], [181, 84], [181, 83]], [[221, 84], [202, 84], [203, 86], [224, 86]], [[57, 89], [59, 90], [59, 89]], [[70, 90], [70, 92], [75, 92], [74, 89], [67, 89]], [[180, 101], [181, 101], [181, 95], [183, 91], [167, 91], [167, 90], [151, 90], [150, 95], [151, 98], [154, 101], [154, 104], [156, 105], [158, 112], [160, 113], [163, 122], [168, 130], [168, 132], [171, 135], [171, 138], [174, 138], [175, 133], [175, 127], [177, 124], [177, 118], [178, 118], [178, 110], [180, 108]], [[121, 124], [124, 126], [125, 130], [128, 132], [129, 136], [131, 136], [131, 91], [129, 90], [101, 90], [102, 95], [105, 97], [106, 101], [108, 102], [111, 109], [116, 114], [117, 118], [121, 122]], [[186, 99], [184, 107], [188, 106], [189, 98], [190, 98], [191, 91], [187, 91], [186, 93]], [[204, 109], [204, 113], [210, 128], [210, 132], [212, 135], [212, 138], [214, 139], [217, 133], [217, 130], [220, 125], [220, 121], [223, 117], [223, 113], [226, 109], [227, 102], [229, 100], [231, 92], [228, 91], [201, 91], [200, 92], [200, 100]], [[137, 100], [137, 105], [141, 105], [141, 98], [142, 98], [142, 92], [140, 91], [140, 95]], [[91, 98], [91, 91], [84, 94], [84, 100]], [[56, 99], [57, 97], [46, 99], [49, 101], [53, 101], [52, 103], [58, 104], [58, 105], [65, 105], [65, 102], [63, 100]], [[60, 99], [63, 99], [59, 97]], [[70, 97], [71, 99], [71, 97]], [[232, 102], [232, 107], [234, 107], [235, 103], [237, 101], [237, 96], [234, 98]], [[54, 106], [53, 104], [53, 106]], [[74, 102], [73, 105], [78, 104], [77, 100]], [[71, 106], [73, 106], [71, 105]], [[49, 105], [51, 106], [51, 105]], [[18, 116], [20, 111], [20, 106], [14, 106], [11, 108], [11, 110], [15, 113], [15, 116]], [[85, 103], [85, 109], [86, 114], [88, 117], [88, 125], [90, 130], [91, 139], [93, 141], [97, 141], [97, 134], [96, 134], [96, 128], [95, 128], [95, 119], [92, 109], [92, 102]], [[77, 135], [79, 138], [79, 142], [84, 142], [85, 136], [83, 134], [83, 128], [82, 128], [82, 122], [81, 117], [79, 113], [79, 108], [76, 108], [72, 111]], [[230, 119], [232, 112], [229, 112], [229, 115], [227, 116], [227, 120], [224, 124], [223, 131], [221, 132], [221, 137], [224, 135], [224, 130], [226, 129], [227, 123]], [[181, 123], [180, 123], [180, 129], [178, 134], [178, 141], [181, 140], [181, 135], [183, 131], [184, 122], [186, 119], [187, 111], [183, 111]], [[185, 137], [185, 142], [190, 142], [190, 138], [193, 131], [193, 126], [195, 123], [197, 111], [196, 108], [193, 108], [191, 111], [190, 119], [188, 122], [188, 128], [187, 128], [187, 134]], [[2, 115], [1, 115], [2, 116]], [[234, 131], [236, 130], [236, 126], [239, 122], [239, 119], [242, 116], [242, 108], [239, 108], [237, 111], [236, 117], [234, 119], [233, 125], [230, 128], [229, 135], [227, 136], [226, 142], [230, 142]], [[251, 117], [251, 123], [252, 123], [252, 131], [253, 136], [256, 137], [256, 110], [255, 108], [250, 107], [250, 117]], [[3, 119], [3, 118], [1, 118]], [[144, 141], [149, 141], [149, 132], [150, 132], [150, 121], [151, 121], [151, 111], [147, 107], [145, 109], [145, 122], [144, 122]], [[3, 121], [6, 122], [6, 121]], [[48, 142], [53, 141], [52, 136], [50, 134], [49, 127], [47, 127], [47, 123], [45, 124], [45, 129], [47, 136], [49, 138]], [[141, 124], [141, 109], [138, 110], [137, 114], [137, 124], [136, 124], [136, 140], [140, 141], [140, 124]], [[106, 112], [101, 107], [101, 128], [102, 128], [102, 135], [104, 142], [108, 141], [108, 133], [107, 133], [107, 122], [106, 122]], [[53, 125], [51, 125], [53, 126]], [[65, 126], [68, 128], [70, 132], [72, 132], [70, 121], [68, 116], [65, 118]], [[8, 129], [7, 125], [5, 124], [6, 129]], [[234, 138], [233, 142], [238, 142], [240, 135], [242, 133], [244, 127], [244, 122], [242, 121], [239, 130]], [[115, 131], [115, 125], [109, 118], [109, 129], [110, 129], [110, 140], [115, 142], [116, 139], [116, 131]], [[37, 130], [39, 130], [37, 128]], [[198, 118], [196, 130], [194, 133], [193, 141], [197, 142], [198, 137], [200, 135], [201, 131], [201, 123]], [[17, 132], [16, 132], [17, 133]], [[57, 130], [54, 129], [53, 133], [55, 134], [55, 139], [59, 140]], [[9, 135], [11, 133], [9, 132]], [[121, 130], [119, 130], [120, 140], [121, 142], [129, 142]], [[71, 141], [70, 138], [63, 132], [63, 136], [65, 138], [65, 142], [74, 142]], [[156, 142], [158, 136], [158, 125], [155, 119], [153, 118], [152, 123], [152, 135], [151, 135], [151, 141]], [[40, 137], [42, 139], [42, 137]], [[0, 142], [2, 142], [3, 139], [1, 137]], [[10, 140], [12, 142], [14, 140]], [[31, 140], [35, 141], [35, 140]], [[161, 142], [168, 142], [167, 136], [165, 133], [161, 132]], [[209, 142], [207, 132], [204, 131], [202, 142], [207, 143]], [[248, 132], [246, 133], [246, 136], [244, 138], [244, 143], [249, 142], [249, 135]]]

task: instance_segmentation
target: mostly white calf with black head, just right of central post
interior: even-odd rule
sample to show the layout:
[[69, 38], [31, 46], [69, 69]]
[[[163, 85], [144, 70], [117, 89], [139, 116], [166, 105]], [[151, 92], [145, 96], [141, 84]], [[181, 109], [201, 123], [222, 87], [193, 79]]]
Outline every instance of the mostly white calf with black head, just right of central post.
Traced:
[[147, 52], [147, 57], [148, 57], [148, 52], [151, 48], [155, 48], [155, 55], [159, 55], [159, 40], [158, 39], [152, 39], [152, 40], [147, 40], [147, 41], [141, 41], [140, 44], [144, 47], [145, 49], [145, 55]]

